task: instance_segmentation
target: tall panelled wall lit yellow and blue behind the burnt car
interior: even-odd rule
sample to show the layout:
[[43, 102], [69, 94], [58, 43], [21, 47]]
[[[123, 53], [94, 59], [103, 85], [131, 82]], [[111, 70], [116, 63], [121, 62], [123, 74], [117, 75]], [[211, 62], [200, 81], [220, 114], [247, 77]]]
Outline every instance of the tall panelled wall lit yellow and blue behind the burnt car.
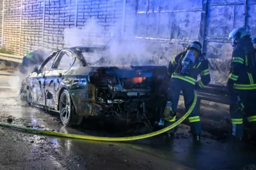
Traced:
[[[83, 30], [90, 18], [97, 18], [102, 30], [94, 36], [100, 37], [100, 41], [106, 43], [109, 31], [118, 27], [125, 32], [126, 39], [150, 42], [154, 59], [161, 64], [167, 64], [189, 41], [201, 41], [211, 62], [212, 82], [223, 83], [232, 52], [228, 33], [246, 25], [252, 36], [256, 36], [253, 0], [126, 0], [125, 6], [123, 3], [123, 0], [2, 0], [0, 43], [16, 55], [39, 47], [60, 49], [68, 46], [65, 35], [72, 30]], [[81, 35], [84, 39], [79, 43], [88, 43], [87, 36]], [[72, 35], [69, 37], [71, 41]]]

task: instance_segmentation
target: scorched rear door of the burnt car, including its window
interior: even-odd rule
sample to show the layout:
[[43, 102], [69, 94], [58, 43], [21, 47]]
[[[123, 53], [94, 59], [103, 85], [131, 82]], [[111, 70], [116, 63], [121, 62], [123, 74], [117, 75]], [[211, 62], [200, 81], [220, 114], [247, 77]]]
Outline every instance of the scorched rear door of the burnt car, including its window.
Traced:
[[45, 74], [46, 105], [50, 109], [56, 110], [58, 105], [58, 88], [63, 79], [63, 74], [72, 67], [75, 59], [73, 53], [68, 50], [62, 50], [54, 60], [51, 71]]

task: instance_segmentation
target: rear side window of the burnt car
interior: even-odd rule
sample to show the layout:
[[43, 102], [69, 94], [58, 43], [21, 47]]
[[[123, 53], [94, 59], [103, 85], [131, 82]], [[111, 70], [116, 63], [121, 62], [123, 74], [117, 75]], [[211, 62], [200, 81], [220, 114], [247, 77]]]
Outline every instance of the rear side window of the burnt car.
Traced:
[[74, 56], [68, 52], [61, 52], [56, 63], [54, 64], [54, 69], [70, 69], [74, 63]]

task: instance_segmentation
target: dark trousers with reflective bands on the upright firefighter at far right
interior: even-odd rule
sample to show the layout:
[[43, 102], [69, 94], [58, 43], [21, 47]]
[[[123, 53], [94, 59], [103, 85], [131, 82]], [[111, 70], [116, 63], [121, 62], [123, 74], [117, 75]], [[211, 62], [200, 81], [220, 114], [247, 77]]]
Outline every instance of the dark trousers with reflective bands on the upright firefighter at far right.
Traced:
[[[230, 92], [232, 135], [237, 138], [243, 138], [244, 136], [244, 117], [247, 119], [246, 122], [250, 131], [256, 134], [255, 94], [256, 90], [236, 90]], [[237, 96], [239, 96], [240, 102], [237, 101]]]

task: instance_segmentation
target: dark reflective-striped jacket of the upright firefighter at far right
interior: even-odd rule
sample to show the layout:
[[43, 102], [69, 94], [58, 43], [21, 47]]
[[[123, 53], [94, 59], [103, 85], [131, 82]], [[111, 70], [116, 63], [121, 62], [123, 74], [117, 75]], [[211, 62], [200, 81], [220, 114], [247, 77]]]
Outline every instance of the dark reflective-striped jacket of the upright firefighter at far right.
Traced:
[[255, 54], [250, 38], [244, 38], [234, 48], [230, 64], [228, 83], [232, 83], [233, 89], [256, 89]]

